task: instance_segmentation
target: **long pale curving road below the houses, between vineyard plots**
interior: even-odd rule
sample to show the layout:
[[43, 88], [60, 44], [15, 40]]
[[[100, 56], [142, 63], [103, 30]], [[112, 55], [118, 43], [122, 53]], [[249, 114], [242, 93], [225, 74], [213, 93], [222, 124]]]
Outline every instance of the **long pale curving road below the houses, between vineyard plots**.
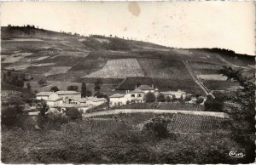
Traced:
[[107, 111], [96, 111], [92, 113], [85, 113], [83, 115], [84, 118], [87, 117], [98, 117], [105, 115], [113, 115], [119, 113], [183, 113], [189, 115], [201, 115], [201, 116], [209, 116], [209, 117], [227, 117], [224, 112], [213, 112], [213, 111], [179, 111], [179, 110], [156, 110], [156, 109], [118, 109], [118, 110], [107, 110]]

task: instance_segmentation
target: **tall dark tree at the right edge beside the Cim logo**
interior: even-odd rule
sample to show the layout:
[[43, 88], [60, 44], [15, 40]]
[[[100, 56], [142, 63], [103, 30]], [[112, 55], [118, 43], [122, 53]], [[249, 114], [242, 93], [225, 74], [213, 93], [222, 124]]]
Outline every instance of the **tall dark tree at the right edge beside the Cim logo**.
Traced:
[[[251, 72], [251, 73], [250, 73]], [[228, 80], [239, 83], [241, 88], [229, 99], [230, 108], [224, 109], [228, 113], [228, 121], [232, 130], [232, 138], [245, 150], [242, 163], [254, 162], [255, 159], [255, 77], [254, 71], [243, 71], [224, 66], [220, 71]], [[244, 74], [246, 73], [247, 76]], [[249, 74], [248, 74], [249, 73]]]

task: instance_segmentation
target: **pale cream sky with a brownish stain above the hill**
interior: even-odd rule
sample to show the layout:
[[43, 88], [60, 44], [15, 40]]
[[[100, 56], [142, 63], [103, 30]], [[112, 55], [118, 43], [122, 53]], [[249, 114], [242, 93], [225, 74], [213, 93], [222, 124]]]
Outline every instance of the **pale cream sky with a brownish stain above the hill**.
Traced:
[[3, 2], [8, 24], [255, 54], [253, 2]]

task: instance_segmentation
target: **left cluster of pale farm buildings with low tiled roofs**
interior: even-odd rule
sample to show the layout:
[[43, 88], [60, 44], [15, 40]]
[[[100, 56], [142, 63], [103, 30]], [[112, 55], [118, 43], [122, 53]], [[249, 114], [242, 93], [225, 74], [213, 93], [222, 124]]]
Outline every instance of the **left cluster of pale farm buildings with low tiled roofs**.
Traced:
[[76, 107], [84, 113], [96, 106], [107, 102], [105, 98], [81, 97], [81, 93], [77, 91], [57, 91], [57, 92], [40, 92], [37, 94], [37, 100], [45, 100], [49, 105], [49, 110], [66, 111], [67, 108]]

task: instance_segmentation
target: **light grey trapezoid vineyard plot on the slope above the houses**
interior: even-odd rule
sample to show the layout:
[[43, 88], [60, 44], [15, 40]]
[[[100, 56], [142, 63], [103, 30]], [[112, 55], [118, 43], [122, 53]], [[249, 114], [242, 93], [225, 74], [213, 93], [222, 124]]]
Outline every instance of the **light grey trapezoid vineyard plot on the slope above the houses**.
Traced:
[[95, 71], [84, 77], [125, 78], [144, 77], [143, 71], [136, 59], [108, 60], [100, 71]]

